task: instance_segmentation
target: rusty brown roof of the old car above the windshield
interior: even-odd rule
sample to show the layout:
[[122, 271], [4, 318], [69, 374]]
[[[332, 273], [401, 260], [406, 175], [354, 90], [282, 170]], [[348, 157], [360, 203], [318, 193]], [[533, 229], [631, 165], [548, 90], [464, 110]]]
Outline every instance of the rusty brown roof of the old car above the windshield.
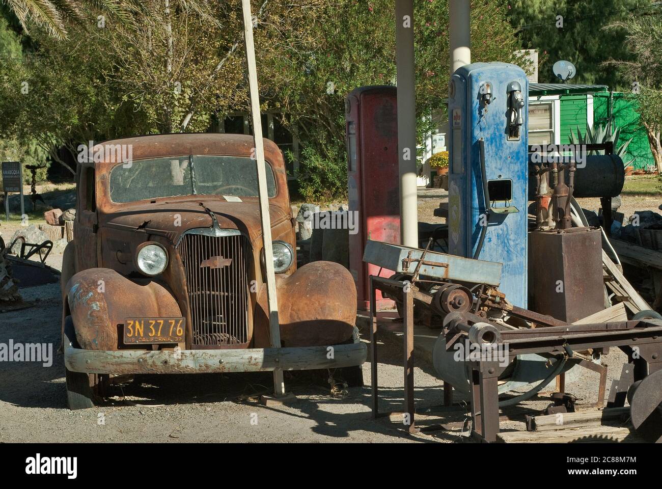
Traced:
[[[275, 142], [263, 138], [264, 156], [272, 164], [282, 162], [281, 151]], [[125, 146], [117, 146], [125, 145]], [[115, 154], [130, 154], [132, 160], [159, 158], [163, 156], [183, 156], [186, 154], [222, 154], [231, 156], [252, 156], [254, 138], [243, 134], [221, 133], [178, 133], [167, 135], [134, 136], [112, 139], [95, 144], [93, 155], [100, 150], [103, 158], [95, 161], [97, 170], [106, 171], [115, 166]], [[100, 158], [91, 158], [100, 159]], [[282, 163], [281, 163], [282, 164]]]

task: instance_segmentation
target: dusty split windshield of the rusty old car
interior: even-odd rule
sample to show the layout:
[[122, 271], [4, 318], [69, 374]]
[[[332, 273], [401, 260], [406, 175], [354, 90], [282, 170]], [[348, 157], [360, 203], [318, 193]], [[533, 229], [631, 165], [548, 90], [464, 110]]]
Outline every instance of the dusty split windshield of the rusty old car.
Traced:
[[[271, 165], [265, 162], [267, 195], [275, 197]], [[120, 164], [111, 170], [115, 203], [177, 195], [258, 197], [258, 172], [248, 156], [166, 156]]]

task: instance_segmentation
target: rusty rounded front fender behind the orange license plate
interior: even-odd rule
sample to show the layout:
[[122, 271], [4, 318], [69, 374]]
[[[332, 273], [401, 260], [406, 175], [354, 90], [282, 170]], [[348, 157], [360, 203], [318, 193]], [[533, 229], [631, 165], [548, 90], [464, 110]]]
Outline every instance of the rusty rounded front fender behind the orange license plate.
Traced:
[[120, 327], [127, 317], [182, 315], [175, 298], [161, 284], [149, 279], [130, 280], [109, 268], [78, 272], [65, 290], [82, 349], [117, 350]]

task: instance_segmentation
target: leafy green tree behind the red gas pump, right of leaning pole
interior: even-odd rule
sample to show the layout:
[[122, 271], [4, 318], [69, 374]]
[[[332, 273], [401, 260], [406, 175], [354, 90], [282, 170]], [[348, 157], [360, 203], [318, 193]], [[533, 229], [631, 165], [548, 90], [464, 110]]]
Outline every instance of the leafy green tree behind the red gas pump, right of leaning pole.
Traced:
[[[448, 97], [448, 1], [414, 3], [417, 119], [445, 111]], [[473, 61], [526, 66], [500, 0], [472, 2]], [[362, 85], [395, 85], [393, 1], [339, 0], [291, 13], [289, 28], [265, 23], [265, 36], [281, 46], [261, 52], [260, 86], [267, 106], [307, 148], [299, 182], [307, 198], [346, 192], [344, 98]], [[262, 27], [262, 26], [261, 26]], [[289, 42], [285, 40], [289, 39]]]

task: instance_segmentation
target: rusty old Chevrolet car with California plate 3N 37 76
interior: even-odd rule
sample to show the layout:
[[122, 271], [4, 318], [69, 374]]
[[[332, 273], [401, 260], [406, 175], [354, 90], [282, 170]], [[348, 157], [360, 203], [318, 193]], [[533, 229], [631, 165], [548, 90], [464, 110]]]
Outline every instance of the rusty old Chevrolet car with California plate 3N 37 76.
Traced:
[[297, 269], [285, 162], [265, 139], [281, 331], [271, 345], [253, 148], [246, 135], [139, 136], [79, 162], [61, 282], [71, 409], [122, 374], [340, 368], [362, 382], [354, 280], [333, 262]]

